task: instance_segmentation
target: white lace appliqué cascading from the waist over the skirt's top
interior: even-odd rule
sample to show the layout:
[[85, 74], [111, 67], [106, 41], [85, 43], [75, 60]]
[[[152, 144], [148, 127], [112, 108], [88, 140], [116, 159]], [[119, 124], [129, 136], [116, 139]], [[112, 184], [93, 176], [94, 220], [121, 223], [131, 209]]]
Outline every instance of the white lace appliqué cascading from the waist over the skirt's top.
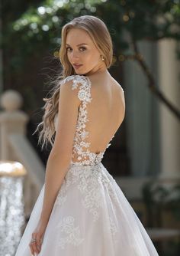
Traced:
[[103, 194], [101, 192], [101, 184], [103, 184], [108, 194], [118, 205], [118, 198], [113, 188], [114, 178], [108, 173], [104, 166], [72, 166], [66, 172], [65, 179], [59, 193], [56, 197], [55, 205], [64, 205], [67, 199], [67, 191], [76, 184], [77, 189], [82, 194], [82, 205], [92, 214], [93, 222], [99, 218], [99, 209], [103, 206]]

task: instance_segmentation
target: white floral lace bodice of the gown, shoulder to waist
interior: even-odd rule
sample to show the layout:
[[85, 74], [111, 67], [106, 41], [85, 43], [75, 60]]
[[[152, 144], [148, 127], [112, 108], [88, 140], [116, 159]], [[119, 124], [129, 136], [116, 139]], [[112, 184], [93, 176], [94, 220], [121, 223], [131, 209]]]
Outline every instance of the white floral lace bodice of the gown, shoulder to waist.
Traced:
[[[82, 101], [82, 103], [79, 106], [78, 119], [76, 123], [76, 133], [73, 140], [71, 164], [94, 166], [95, 164], [98, 164], [101, 162], [101, 159], [104, 156], [105, 150], [108, 148], [108, 146], [111, 145], [111, 143], [108, 143], [108, 146], [106, 147], [106, 149], [104, 149], [104, 151], [100, 153], [92, 153], [89, 150], [89, 146], [91, 145], [91, 143], [87, 141], [89, 132], [88, 130], [86, 130], [86, 123], [89, 120], [88, 120], [88, 111], [86, 107], [87, 107], [87, 104], [91, 103], [92, 101], [92, 97], [91, 97], [92, 84], [88, 77], [85, 77], [82, 75], [72, 75], [72, 76], [66, 77], [61, 82], [61, 84], [66, 83], [69, 80], [72, 80], [72, 90], [75, 90], [78, 88], [77, 97], [79, 97], [79, 100]], [[54, 125], [56, 130], [57, 114], [54, 119]], [[79, 162], [77, 161], [73, 162], [74, 156], [77, 156], [77, 159]]]

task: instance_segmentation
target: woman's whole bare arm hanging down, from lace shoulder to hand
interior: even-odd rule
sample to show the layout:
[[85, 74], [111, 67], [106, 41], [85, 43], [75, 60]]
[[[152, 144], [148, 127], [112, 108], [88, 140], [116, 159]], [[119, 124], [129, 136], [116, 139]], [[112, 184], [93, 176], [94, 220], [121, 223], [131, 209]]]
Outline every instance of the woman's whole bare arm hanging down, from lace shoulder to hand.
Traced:
[[[56, 136], [47, 160], [43, 208], [37, 228], [32, 234], [33, 238], [37, 238], [39, 247], [40, 239], [47, 227], [56, 196], [69, 169], [80, 103], [81, 101], [77, 97], [77, 90], [72, 90], [72, 81], [61, 84]], [[37, 245], [30, 245], [32, 254], [40, 252], [37, 249]]]

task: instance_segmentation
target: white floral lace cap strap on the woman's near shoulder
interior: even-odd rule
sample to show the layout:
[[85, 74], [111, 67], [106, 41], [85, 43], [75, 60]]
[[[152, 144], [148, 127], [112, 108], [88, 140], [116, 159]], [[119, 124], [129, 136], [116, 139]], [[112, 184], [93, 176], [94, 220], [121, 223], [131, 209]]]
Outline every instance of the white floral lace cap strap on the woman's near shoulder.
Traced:
[[72, 90], [75, 90], [79, 87], [78, 90], [78, 97], [79, 100], [83, 101], [84, 103], [91, 102], [91, 81], [88, 77], [82, 76], [82, 75], [72, 75], [69, 77], [66, 77], [62, 84], [68, 82], [69, 80], [72, 80]]

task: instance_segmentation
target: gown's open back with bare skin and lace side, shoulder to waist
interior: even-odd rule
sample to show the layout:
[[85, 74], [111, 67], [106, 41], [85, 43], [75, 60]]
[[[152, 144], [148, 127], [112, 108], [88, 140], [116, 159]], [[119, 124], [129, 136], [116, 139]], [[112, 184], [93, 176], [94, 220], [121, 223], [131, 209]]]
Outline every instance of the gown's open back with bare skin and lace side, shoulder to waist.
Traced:
[[[82, 75], [66, 77], [62, 83], [69, 80], [72, 80], [72, 90], [78, 88], [77, 97], [81, 100], [71, 163], [95, 165], [101, 162], [124, 119], [122, 113], [125, 109], [122, 110], [120, 92], [122, 88], [118, 89], [111, 84], [96, 87], [88, 77]], [[121, 110], [118, 110], [120, 107]]]

